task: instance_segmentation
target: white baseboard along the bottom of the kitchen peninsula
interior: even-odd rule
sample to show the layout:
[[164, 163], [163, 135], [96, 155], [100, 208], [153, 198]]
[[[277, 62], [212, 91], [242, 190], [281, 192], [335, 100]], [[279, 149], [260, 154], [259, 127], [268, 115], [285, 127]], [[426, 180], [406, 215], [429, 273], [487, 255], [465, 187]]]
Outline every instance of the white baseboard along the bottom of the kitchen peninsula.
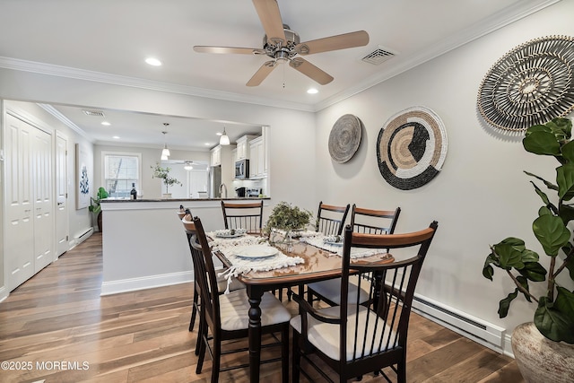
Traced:
[[117, 294], [120, 292], [135, 292], [152, 289], [154, 287], [170, 286], [178, 283], [188, 283], [194, 280], [192, 271], [181, 273], [150, 275], [141, 278], [122, 279], [101, 283], [100, 296]]

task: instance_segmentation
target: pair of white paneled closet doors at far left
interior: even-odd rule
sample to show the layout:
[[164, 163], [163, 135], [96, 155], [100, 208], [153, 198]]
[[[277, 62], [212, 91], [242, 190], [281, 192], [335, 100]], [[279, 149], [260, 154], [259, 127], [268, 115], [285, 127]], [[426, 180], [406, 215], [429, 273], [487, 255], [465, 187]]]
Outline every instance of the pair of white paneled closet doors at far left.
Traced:
[[52, 135], [5, 115], [4, 267], [10, 291], [54, 259]]

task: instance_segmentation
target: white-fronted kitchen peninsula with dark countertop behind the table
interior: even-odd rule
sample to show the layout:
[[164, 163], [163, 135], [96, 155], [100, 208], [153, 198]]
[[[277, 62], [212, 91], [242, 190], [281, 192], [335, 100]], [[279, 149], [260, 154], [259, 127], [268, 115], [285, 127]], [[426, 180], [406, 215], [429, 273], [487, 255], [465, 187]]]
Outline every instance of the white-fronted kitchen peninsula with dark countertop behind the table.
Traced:
[[214, 231], [223, 228], [222, 199], [239, 203], [263, 199], [264, 222], [269, 215], [268, 197], [102, 200], [101, 295], [192, 281], [179, 205], [200, 217], [206, 231]]

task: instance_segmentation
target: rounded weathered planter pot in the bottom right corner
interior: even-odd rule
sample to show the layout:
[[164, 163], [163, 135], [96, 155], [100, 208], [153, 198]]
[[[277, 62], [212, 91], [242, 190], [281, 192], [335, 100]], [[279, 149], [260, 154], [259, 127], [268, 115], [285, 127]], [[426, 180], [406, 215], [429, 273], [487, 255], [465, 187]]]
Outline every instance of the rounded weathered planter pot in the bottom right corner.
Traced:
[[574, 382], [574, 345], [553, 342], [533, 322], [512, 332], [512, 352], [526, 383]]

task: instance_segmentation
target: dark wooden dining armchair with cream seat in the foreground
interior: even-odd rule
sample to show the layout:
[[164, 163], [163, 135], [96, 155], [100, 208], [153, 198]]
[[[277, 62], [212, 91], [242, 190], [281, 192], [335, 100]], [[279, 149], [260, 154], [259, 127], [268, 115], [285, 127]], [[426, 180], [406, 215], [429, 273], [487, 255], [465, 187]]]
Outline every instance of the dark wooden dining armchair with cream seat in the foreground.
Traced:
[[[291, 319], [292, 380], [298, 382], [301, 361], [307, 361], [326, 380], [333, 381], [316, 358], [324, 361], [340, 381], [361, 379], [370, 372], [382, 374], [388, 381], [390, 370], [398, 382], [406, 382], [406, 340], [409, 317], [422, 263], [438, 223], [429, 228], [404, 234], [364, 234], [344, 230], [343, 270], [339, 306], [315, 309], [298, 295], [300, 315]], [[401, 259], [382, 264], [357, 259], [351, 261], [351, 248], [389, 248]], [[348, 292], [349, 278], [358, 275], [360, 288], [365, 284], [369, 300], [361, 302], [359, 294]], [[313, 356], [315, 355], [315, 356]], [[383, 371], [384, 368], [390, 367]]]

